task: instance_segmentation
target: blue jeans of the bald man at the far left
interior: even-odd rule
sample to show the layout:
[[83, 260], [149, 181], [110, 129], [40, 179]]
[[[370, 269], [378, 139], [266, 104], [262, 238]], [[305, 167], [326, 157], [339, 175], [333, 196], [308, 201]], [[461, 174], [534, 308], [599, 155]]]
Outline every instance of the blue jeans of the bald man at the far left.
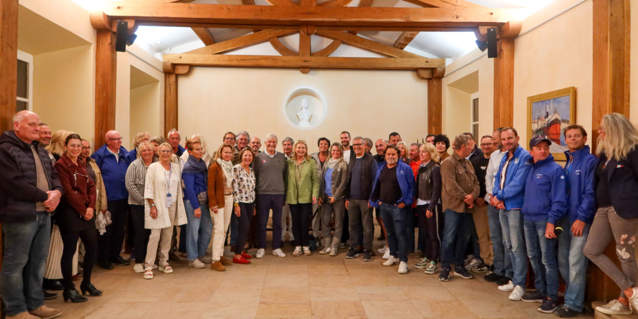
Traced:
[[51, 218], [36, 212], [37, 221], [3, 223], [4, 255], [0, 289], [6, 315], [15, 316], [44, 305], [42, 279], [51, 240]]

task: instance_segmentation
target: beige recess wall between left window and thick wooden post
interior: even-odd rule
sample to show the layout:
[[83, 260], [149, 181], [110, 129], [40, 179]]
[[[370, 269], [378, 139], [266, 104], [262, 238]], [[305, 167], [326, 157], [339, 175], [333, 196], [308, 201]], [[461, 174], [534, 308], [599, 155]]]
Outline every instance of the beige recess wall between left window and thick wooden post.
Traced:
[[93, 140], [93, 45], [33, 56], [33, 112], [52, 131]]

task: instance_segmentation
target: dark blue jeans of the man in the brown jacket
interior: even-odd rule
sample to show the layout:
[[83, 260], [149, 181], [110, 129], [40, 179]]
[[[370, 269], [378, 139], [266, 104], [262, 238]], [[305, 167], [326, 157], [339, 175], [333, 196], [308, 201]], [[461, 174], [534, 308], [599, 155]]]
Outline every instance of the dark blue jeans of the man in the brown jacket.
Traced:
[[455, 212], [446, 209], [443, 242], [441, 242], [441, 268], [450, 269], [450, 263], [463, 267], [465, 249], [470, 241], [470, 230], [473, 225], [472, 214]]

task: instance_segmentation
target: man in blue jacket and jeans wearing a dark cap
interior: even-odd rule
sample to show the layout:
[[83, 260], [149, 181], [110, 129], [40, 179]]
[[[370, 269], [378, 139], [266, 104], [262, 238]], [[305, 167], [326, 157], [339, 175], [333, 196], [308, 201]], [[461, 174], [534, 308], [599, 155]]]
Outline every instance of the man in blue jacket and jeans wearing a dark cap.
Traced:
[[549, 152], [552, 142], [544, 137], [530, 140], [528, 161], [532, 168], [525, 181], [523, 219], [527, 255], [534, 270], [535, 292], [526, 293], [525, 302], [542, 302], [538, 311], [553, 313], [558, 300], [558, 262], [554, 226], [567, 214], [565, 171]]

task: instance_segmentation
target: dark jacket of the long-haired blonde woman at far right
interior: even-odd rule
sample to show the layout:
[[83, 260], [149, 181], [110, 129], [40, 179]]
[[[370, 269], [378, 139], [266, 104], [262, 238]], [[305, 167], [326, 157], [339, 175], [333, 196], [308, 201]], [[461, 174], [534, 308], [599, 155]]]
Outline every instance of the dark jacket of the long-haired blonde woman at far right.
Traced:
[[[607, 161], [604, 153], [598, 158], [595, 169]], [[638, 217], [638, 147], [634, 147], [627, 154], [627, 158], [617, 161], [609, 160], [607, 172], [607, 187], [611, 204], [616, 214], [622, 218]], [[597, 174], [594, 174], [594, 187], [598, 186]]]

